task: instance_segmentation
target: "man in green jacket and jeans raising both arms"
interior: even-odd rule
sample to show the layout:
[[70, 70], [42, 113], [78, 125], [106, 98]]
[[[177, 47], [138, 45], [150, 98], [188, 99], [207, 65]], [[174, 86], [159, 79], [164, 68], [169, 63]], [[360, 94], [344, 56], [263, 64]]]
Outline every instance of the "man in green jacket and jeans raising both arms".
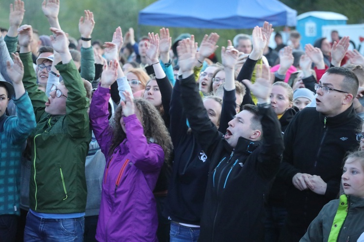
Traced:
[[20, 59], [24, 63], [23, 82], [37, 122], [31, 135], [30, 210], [24, 241], [54, 238], [83, 241], [87, 197], [85, 158], [91, 141], [89, 99], [72, 61], [66, 33], [56, 28], [50, 30], [52, 46], [61, 57], [55, 68], [63, 81], [51, 87], [47, 98], [45, 92], [37, 89], [35, 81], [30, 52], [32, 27], [23, 25], [18, 29]]

